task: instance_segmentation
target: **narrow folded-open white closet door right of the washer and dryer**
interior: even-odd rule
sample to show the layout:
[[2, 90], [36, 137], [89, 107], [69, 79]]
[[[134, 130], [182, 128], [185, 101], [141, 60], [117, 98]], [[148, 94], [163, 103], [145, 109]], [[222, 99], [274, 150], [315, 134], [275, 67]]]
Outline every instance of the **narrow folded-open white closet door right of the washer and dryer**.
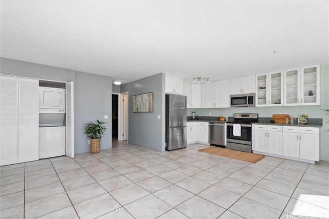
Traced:
[[74, 87], [66, 83], [66, 156], [74, 157]]

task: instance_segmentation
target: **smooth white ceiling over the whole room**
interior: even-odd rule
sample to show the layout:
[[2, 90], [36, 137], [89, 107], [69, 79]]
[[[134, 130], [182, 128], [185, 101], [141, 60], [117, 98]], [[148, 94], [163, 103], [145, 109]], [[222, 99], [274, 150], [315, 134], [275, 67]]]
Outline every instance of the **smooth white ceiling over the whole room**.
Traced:
[[328, 64], [328, 19], [328, 1], [1, 1], [1, 56], [217, 81]]

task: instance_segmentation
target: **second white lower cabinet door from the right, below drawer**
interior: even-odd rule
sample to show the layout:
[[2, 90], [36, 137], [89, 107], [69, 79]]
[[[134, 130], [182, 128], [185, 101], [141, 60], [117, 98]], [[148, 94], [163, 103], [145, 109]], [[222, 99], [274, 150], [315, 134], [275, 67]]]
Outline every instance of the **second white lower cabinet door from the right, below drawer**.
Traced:
[[299, 133], [283, 132], [282, 155], [299, 158]]

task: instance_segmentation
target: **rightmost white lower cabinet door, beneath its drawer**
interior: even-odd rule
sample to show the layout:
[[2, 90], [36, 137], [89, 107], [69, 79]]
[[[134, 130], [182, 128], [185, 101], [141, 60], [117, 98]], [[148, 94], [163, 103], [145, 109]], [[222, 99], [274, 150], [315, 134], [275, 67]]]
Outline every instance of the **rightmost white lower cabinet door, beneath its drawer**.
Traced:
[[319, 161], [318, 134], [300, 134], [299, 158], [309, 161]]

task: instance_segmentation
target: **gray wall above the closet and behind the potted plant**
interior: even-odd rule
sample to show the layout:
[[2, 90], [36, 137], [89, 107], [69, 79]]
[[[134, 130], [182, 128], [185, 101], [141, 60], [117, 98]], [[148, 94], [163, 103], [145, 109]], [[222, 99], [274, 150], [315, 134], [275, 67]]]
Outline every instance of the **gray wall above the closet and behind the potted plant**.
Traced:
[[112, 77], [70, 69], [1, 58], [1, 74], [59, 82], [74, 82], [75, 104], [75, 153], [89, 152], [88, 141], [83, 135], [83, 124], [101, 120], [108, 115], [107, 132], [101, 148], [112, 147]]

